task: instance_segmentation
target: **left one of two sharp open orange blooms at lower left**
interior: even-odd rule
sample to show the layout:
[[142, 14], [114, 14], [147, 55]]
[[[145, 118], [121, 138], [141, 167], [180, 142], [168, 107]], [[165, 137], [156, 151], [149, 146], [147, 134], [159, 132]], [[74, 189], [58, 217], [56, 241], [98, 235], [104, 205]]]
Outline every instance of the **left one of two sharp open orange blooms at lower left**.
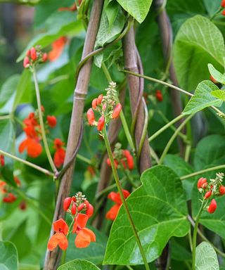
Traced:
[[63, 219], [58, 219], [53, 223], [53, 228], [56, 233], [49, 239], [48, 249], [53, 250], [58, 245], [60, 249], [66, 250], [68, 248], [68, 238], [66, 238], [69, 231], [68, 224]]

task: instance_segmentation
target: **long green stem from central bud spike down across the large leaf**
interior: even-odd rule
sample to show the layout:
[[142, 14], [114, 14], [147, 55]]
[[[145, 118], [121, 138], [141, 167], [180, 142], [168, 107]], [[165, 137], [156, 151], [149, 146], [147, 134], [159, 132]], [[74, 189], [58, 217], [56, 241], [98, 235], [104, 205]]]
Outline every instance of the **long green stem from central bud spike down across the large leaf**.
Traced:
[[105, 146], [107, 148], [108, 156], [110, 158], [110, 162], [111, 162], [111, 166], [112, 166], [112, 170], [113, 170], [113, 175], [115, 177], [115, 183], [117, 184], [117, 188], [118, 188], [118, 191], [120, 193], [120, 198], [122, 200], [122, 205], [124, 206], [124, 210], [125, 210], [125, 212], [127, 214], [127, 218], [128, 218], [129, 223], [131, 225], [131, 229], [132, 229], [132, 231], [134, 233], [134, 237], [136, 238], [136, 243], [139, 246], [139, 250], [141, 252], [141, 256], [142, 256], [142, 259], [143, 259], [143, 263], [145, 264], [146, 270], [150, 270], [150, 268], [148, 266], [148, 261], [146, 259], [145, 252], [144, 252], [143, 247], [141, 245], [141, 240], [140, 240], [139, 235], [138, 235], [138, 233], [136, 231], [134, 221], [133, 221], [133, 219], [131, 217], [131, 214], [129, 212], [127, 202], [126, 202], [126, 200], [124, 198], [124, 194], [122, 193], [122, 186], [120, 184], [120, 179], [119, 179], [119, 176], [117, 174], [117, 169], [115, 168], [115, 164], [114, 164], [114, 160], [113, 160], [113, 153], [112, 153], [112, 150], [110, 148], [110, 142], [108, 140], [108, 134], [107, 134], [107, 131], [106, 131], [105, 127], [104, 127], [104, 130], [103, 130], [103, 134], [104, 134]]

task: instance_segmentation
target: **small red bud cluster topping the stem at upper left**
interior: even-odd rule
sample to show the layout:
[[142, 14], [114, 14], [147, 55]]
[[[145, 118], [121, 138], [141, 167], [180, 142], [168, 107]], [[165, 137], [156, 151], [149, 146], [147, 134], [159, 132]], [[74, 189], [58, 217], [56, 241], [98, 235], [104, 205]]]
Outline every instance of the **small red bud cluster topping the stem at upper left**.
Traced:
[[23, 67], [32, 68], [34, 65], [46, 62], [46, 60], [48, 60], [47, 53], [41, 51], [41, 46], [35, 46], [27, 51], [26, 56], [23, 59]]

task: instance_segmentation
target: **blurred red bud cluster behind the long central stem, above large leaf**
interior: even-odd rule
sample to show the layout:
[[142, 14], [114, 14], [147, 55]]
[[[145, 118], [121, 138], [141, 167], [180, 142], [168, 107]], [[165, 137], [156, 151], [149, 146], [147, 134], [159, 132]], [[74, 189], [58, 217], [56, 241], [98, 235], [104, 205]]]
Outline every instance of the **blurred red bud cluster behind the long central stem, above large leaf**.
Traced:
[[[120, 169], [134, 169], [134, 158], [129, 152], [129, 150], [121, 149], [121, 144], [116, 143], [115, 149], [113, 151], [113, 160], [115, 164], [115, 168]], [[106, 160], [107, 164], [111, 167], [110, 159]]]

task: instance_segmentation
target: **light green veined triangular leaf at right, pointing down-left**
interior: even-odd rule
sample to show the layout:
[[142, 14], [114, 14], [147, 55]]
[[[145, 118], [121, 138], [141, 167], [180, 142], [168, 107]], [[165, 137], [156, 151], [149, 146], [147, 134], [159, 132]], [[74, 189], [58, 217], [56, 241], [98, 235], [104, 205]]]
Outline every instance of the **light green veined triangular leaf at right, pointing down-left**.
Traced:
[[219, 88], [213, 82], [200, 82], [195, 90], [194, 96], [190, 98], [184, 108], [183, 114], [191, 115], [210, 106], [220, 107], [222, 101], [219, 101], [211, 95], [211, 92], [215, 90], [219, 90]]

